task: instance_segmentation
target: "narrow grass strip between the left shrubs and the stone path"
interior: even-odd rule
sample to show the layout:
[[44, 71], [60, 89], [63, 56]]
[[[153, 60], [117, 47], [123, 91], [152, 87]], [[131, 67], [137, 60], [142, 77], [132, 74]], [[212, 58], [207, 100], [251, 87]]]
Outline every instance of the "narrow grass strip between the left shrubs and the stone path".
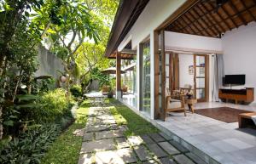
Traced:
[[49, 151], [42, 160], [43, 164], [76, 164], [79, 159], [79, 151], [81, 149], [82, 137], [73, 135], [77, 129], [84, 128], [87, 121], [90, 102], [85, 100], [76, 110], [77, 119], [67, 128], [65, 132], [55, 140]]

